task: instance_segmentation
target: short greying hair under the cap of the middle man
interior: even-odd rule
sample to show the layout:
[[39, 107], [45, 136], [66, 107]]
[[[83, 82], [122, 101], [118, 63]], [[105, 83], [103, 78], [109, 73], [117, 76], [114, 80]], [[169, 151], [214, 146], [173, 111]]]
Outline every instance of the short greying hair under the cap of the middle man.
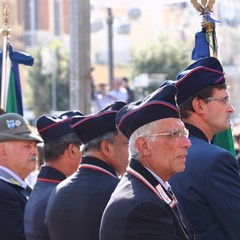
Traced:
[[89, 150], [100, 150], [100, 145], [101, 142], [106, 140], [110, 143], [115, 143], [115, 136], [117, 135], [118, 131], [113, 131], [113, 132], [108, 132], [105, 133], [97, 138], [94, 138], [93, 140], [89, 141], [88, 143], [86, 143], [82, 149], [82, 152], [87, 152]]

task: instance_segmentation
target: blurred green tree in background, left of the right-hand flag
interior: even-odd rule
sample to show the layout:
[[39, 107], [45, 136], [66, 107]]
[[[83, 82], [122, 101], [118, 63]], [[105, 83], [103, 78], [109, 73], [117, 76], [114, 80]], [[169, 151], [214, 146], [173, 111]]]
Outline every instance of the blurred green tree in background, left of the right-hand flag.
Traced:
[[[180, 45], [161, 37], [157, 43], [148, 43], [142, 49], [132, 51], [132, 78], [141, 73], [165, 73], [167, 79], [174, 80], [177, 74], [190, 64], [190, 54], [187, 44]], [[149, 93], [158, 87], [159, 85], [150, 85], [140, 91]]]

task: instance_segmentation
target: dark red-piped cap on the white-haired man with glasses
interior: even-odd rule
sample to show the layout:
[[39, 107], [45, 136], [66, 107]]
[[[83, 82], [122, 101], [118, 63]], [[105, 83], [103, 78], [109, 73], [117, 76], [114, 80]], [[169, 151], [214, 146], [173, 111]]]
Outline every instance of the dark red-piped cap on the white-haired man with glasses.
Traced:
[[116, 116], [117, 127], [129, 139], [135, 130], [147, 123], [163, 118], [180, 118], [176, 94], [176, 86], [166, 85], [143, 101], [124, 106]]

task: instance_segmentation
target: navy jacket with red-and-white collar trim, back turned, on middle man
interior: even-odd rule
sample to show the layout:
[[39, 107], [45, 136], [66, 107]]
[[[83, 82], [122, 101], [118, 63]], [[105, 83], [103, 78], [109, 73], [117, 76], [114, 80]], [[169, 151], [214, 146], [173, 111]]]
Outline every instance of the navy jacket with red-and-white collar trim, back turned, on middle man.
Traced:
[[103, 210], [119, 182], [115, 170], [83, 157], [79, 170], [52, 192], [46, 217], [51, 239], [98, 240]]

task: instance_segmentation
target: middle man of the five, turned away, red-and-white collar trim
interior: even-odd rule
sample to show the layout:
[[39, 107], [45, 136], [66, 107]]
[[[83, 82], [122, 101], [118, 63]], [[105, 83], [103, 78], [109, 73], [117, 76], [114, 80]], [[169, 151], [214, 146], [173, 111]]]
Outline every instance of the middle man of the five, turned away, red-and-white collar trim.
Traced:
[[115, 116], [125, 103], [74, 117], [71, 125], [83, 141], [79, 170], [51, 194], [46, 211], [51, 239], [98, 240], [103, 210], [128, 164], [128, 140], [118, 132]]

